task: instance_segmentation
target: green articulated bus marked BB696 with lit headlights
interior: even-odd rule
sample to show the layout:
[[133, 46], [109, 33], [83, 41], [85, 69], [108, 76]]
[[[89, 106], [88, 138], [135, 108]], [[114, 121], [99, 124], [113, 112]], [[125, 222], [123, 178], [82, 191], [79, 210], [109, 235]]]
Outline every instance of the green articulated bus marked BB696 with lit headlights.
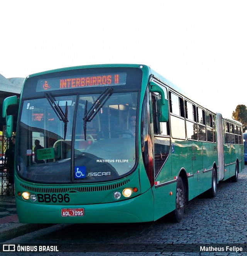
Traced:
[[197, 104], [145, 65], [28, 76], [19, 106], [15, 199], [21, 223], [180, 221], [244, 168], [241, 123]]

